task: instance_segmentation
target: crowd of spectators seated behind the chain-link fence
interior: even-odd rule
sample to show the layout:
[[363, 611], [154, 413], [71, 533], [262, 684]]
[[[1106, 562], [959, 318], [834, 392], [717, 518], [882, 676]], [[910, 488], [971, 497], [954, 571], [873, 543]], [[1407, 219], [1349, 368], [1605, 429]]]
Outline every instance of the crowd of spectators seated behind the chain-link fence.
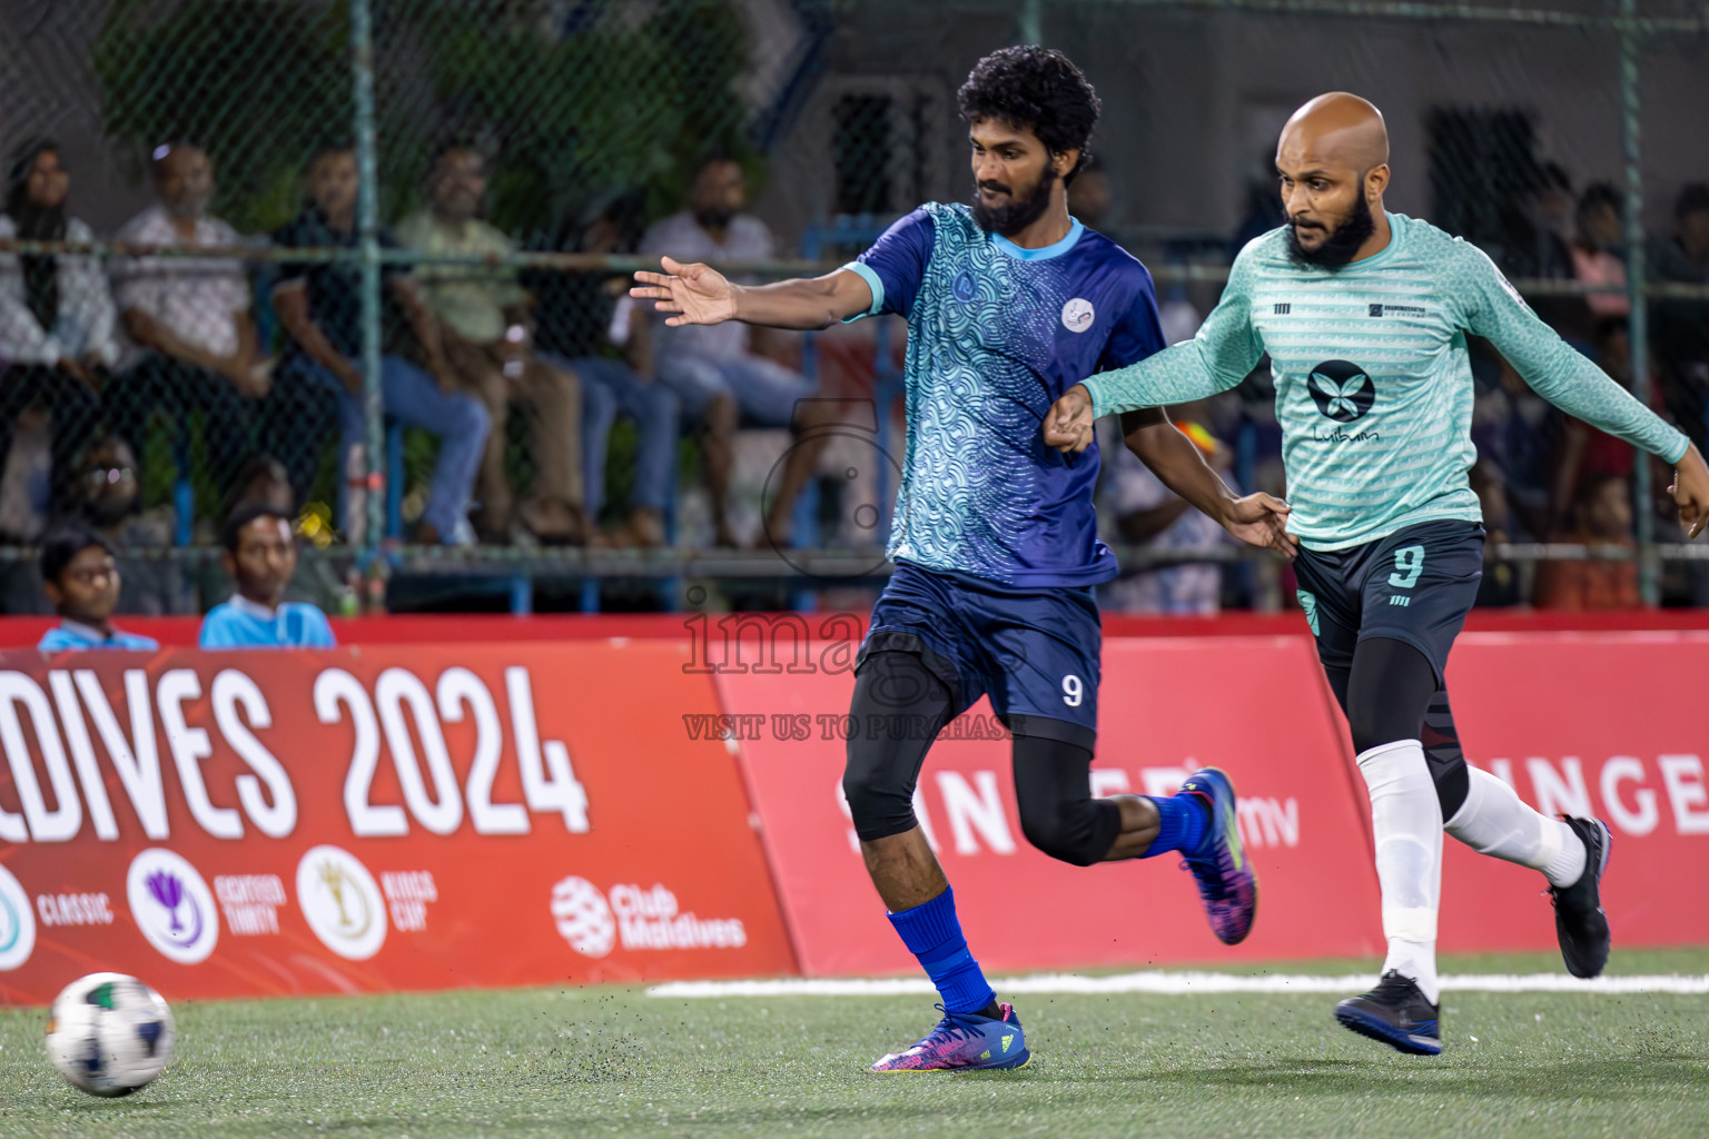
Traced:
[[[689, 475], [702, 480], [713, 541], [735, 545], [737, 429], [755, 425], [796, 432], [764, 526], [771, 541], [786, 541], [795, 499], [824, 439], [813, 432], [815, 408], [831, 406], [812, 400], [815, 383], [790, 362], [790, 345], [735, 323], [665, 328], [627, 301], [617, 273], [506, 265], [518, 244], [484, 219], [490, 162], [475, 145], [441, 147], [422, 171], [420, 207], [395, 231], [379, 232], [381, 248], [424, 256], [415, 265], [388, 260], [381, 283], [385, 415], [436, 441], [407, 538], [661, 545], [678, 485], [678, 439], [689, 432], [701, 466]], [[161, 145], [149, 162], [156, 203], [113, 241], [178, 249], [258, 244], [208, 212], [215, 178], [217, 155], [193, 142]], [[1072, 207], [1095, 225], [1109, 207], [1107, 178], [1094, 167], [1070, 191]], [[651, 227], [637, 195], [608, 195], [549, 244], [684, 261], [778, 254], [766, 224], [745, 212], [749, 186], [738, 162], [708, 157], [690, 184], [684, 208]], [[304, 164], [299, 213], [267, 241], [279, 249], [354, 249], [357, 186], [354, 150], [321, 147]], [[73, 200], [56, 143], [26, 142], [5, 169], [0, 242], [96, 241], [72, 215]], [[1254, 205], [1242, 232], [1268, 227], [1265, 208], [1273, 224], [1273, 207]], [[1668, 231], [1653, 237], [1651, 275], [1709, 285], [1709, 184], [1680, 190], [1668, 220]], [[1485, 246], [1511, 277], [1600, 289], [1531, 302], [1574, 347], [1630, 384], [1622, 195], [1605, 183], [1576, 191], [1565, 169], [1547, 164], [1518, 195], [1502, 234]], [[256, 502], [296, 517], [318, 488], [326, 497], [330, 487], [337, 502], [323, 529], [359, 534], [367, 463], [359, 283], [354, 260], [323, 254], [246, 263], [229, 253], [103, 261], [85, 253], [0, 251], [0, 540], [36, 541], [48, 516], [82, 519], [123, 569], [121, 611], [176, 613], [220, 601], [229, 586], [217, 574], [208, 579], [138, 557], [183, 533], [173, 505], [145, 509], [145, 471], [169, 470], [179, 480], [195, 473], [203, 497], [217, 497], [215, 526]], [[1162, 311], [1171, 338], [1191, 335], [1198, 312], [1184, 294], [1166, 295]], [[1702, 446], [1709, 301], [1658, 299], [1649, 316], [1653, 406]], [[1630, 546], [1636, 512], [1646, 509], [1659, 538], [1675, 534], [1665, 495], [1634, 502], [1630, 447], [1564, 418], [1494, 352], [1473, 345], [1473, 353], [1480, 456], [1473, 487], [1494, 541]], [[1263, 398], [1263, 379], [1254, 376], [1244, 403], [1229, 396], [1222, 406], [1178, 410], [1178, 420], [1230, 478], [1234, 435], [1246, 430], [1258, 441], [1246, 471], [1261, 480], [1265, 456], [1275, 453], [1273, 422], [1266, 429], [1256, 415], [1242, 427], [1242, 408]], [[607, 464], [619, 417], [632, 420], [634, 432], [619, 478], [625, 500], [614, 509]], [[46, 437], [46, 454], [34, 463], [14, 454], [21, 434]], [[1200, 526], [1128, 458], [1106, 459], [1111, 540], [1162, 548], [1217, 541], [1215, 528]], [[1659, 492], [1668, 482], [1658, 466], [1651, 487]], [[214, 514], [208, 502], [198, 505]], [[203, 538], [214, 533], [203, 529]], [[1535, 570], [1492, 558], [1489, 570], [1482, 599], [1490, 605], [1637, 603], [1630, 560]], [[311, 567], [301, 577], [297, 587], [314, 591], [323, 572]], [[1118, 608], [1208, 611], [1230, 593], [1222, 577], [1215, 567], [1179, 567], [1123, 582], [1107, 599]], [[337, 582], [325, 582], [325, 593], [337, 593]], [[1709, 603], [1709, 582], [1685, 565], [1670, 579], [1670, 596]], [[7, 591], [0, 606], [19, 608], [17, 591]]]

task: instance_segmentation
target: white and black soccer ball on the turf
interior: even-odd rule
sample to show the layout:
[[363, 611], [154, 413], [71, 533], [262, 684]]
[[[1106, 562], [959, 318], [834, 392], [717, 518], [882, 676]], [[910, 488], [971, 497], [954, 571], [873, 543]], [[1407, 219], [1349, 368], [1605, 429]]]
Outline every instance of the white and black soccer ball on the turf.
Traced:
[[68, 984], [48, 1013], [48, 1057], [89, 1095], [121, 1096], [173, 1059], [173, 1011], [125, 973], [89, 973]]

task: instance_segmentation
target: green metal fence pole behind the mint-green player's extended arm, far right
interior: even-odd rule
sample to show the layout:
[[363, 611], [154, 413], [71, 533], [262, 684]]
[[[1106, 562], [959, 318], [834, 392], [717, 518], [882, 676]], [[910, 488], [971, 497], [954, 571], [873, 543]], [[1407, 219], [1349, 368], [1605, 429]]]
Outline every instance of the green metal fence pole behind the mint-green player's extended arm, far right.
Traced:
[[[1639, 27], [1637, 0], [1620, 0], [1620, 125], [1625, 143], [1625, 287], [1632, 299], [1632, 394], [1649, 406], [1649, 309], [1644, 302], [1644, 162], [1641, 143]], [[1649, 456], [1632, 464], [1632, 497], [1637, 517], [1637, 587], [1644, 605], [1661, 601], [1656, 560], [1656, 512], [1649, 495]]]

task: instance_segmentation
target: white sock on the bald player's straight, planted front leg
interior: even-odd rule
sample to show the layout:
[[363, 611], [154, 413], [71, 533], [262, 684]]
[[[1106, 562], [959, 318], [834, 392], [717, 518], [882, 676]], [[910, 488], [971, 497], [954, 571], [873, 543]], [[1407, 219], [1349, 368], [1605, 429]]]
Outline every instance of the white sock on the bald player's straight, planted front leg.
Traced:
[[1388, 958], [1383, 972], [1396, 970], [1424, 990], [1430, 1004], [1441, 999], [1436, 980], [1436, 912], [1442, 897], [1442, 806], [1417, 739], [1398, 739], [1359, 756], [1359, 772], [1371, 791], [1371, 832], [1377, 847], [1377, 883], [1383, 886], [1383, 936]]

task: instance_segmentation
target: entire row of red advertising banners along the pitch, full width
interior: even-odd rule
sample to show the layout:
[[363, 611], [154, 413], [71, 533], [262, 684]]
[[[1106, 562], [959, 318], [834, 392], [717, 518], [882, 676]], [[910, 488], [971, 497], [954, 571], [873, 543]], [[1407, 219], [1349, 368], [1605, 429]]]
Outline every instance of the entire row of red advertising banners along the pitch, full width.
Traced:
[[[169, 997], [911, 972], [841, 799], [860, 622], [672, 620], [0, 654], [0, 1004], [104, 968]], [[1449, 668], [1473, 762], [1613, 828], [1617, 946], [1709, 941], [1702, 676], [1692, 630], [1471, 632]], [[1217, 943], [1174, 857], [1036, 852], [981, 702], [933, 746], [916, 811], [988, 967], [1381, 949], [1365, 792], [1307, 637], [1111, 637], [1099, 727], [1095, 794], [1234, 775], [1253, 936]], [[1444, 949], [1553, 948], [1535, 871], [1446, 850]]]

